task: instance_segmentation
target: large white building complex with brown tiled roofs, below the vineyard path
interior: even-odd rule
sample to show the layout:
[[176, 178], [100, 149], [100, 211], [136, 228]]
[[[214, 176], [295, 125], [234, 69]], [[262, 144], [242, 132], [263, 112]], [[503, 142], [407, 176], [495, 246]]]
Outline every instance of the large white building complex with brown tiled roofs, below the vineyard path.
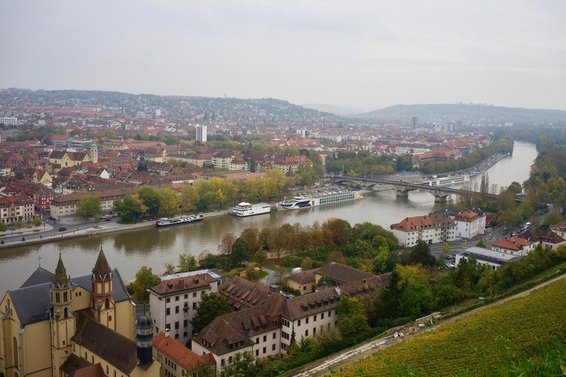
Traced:
[[285, 354], [291, 338], [298, 341], [334, 329], [338, 320], [336, 306], [343, 295], [369, 294], [386, 285], [391, 273], [364, 276], [340, 286], [330, 287], [324, 282], [320, 290], [290, 299], [233, 277], [219, 287], [219, 294], [234, 312], [204, 327], [192, 338], [191, 348], [196, 354], [211, 352], [219, 371], [241, 352], [262, 357]]

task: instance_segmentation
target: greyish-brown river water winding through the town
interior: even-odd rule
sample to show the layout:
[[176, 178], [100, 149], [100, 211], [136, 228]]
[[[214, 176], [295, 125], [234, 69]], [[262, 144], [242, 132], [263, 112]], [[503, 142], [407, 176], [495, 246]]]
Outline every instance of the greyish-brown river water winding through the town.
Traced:
[[[487, 173], [490, 183], [506, 187], [511, 182], [523, 182], [529, 178], [529, 169], [538, 152], [534, 144], [515, 141], [514, 153], [492, 166]], [[479, 182], [481, 176], [472, 178]], [[54, 272], [59, 251], [63, 255], [67, 274], [83, 276], [92, 271], [98, 250], [102, 246], [110, 267], [120, 270], [122, 279], [135, 277], [141, 266], [151, 267], [154, 273], [163, 272], [164, 264], [176, 264], [178, 255], [199, 255], [202, 251], [216, 253], [224, 233], [236, 235], [245, 228], [281, 226], [299, 223], [311, 225], [339, 217], [352, 226], [369, 221], [388, 227], [408, 216], [419, 216], [440, 209], [434, 197], [426, 191], [411, 191], [409, 197], [396, 197], [395, 191], [366, 192], [364, 199], [355, 202], [330, 204], [328, 206], [299, 211], [272, 211], [269, 215], [236, 219], [233, 216], [218, 216], [195, 224], [171, 228], [147, 227], [100, 236], [61, 240], [42, 245], [26, 245], [0, 250], [0, 292], [16, 289], [35, 271], [39, 262], [42, 267]], [[39, 260], [38, 258], [41, 257]]]

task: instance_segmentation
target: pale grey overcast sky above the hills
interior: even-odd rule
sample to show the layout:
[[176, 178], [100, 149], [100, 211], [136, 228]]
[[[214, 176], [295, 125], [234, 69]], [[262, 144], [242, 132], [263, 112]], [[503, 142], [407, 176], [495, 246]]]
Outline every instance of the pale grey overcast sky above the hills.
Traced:
[[0, 4], [0, 88], [566, 110], [564, 0]]

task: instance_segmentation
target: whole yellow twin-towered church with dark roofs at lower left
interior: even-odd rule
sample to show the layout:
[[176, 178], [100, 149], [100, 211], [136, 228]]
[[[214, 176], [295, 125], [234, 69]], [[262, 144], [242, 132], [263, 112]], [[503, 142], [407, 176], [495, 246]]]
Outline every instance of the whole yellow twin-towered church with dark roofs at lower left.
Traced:
[[0, 377], [149, 377], [153, 323], [134, 303], [102, 248], [90, 275], [38, 267], [0, 302]]

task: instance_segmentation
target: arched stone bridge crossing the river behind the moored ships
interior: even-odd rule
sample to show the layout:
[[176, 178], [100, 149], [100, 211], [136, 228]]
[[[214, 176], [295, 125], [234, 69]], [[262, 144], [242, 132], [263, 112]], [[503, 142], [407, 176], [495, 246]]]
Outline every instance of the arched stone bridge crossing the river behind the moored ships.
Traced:
[[[397, 191], [398, 197], [408, 197], [409, 191], [411, 190], [427, 190], [432, 195], [434, 195], [434, 202], [446, 202], [446, 198], [453, 194], [470, 194], [479, 195], [480, 192], [461, 190], [453, 187], [444, 186], [430, 186], [428, 183], [415, 183], [406, 182], [403, 180], [383, 180], [383, 179], [370, 179], [370, 178], [359, 178], [359, 177], [347, 177], [345, 175], [333, 175], [330, 178], [333, 183], [340, 185], [343, 183], [350, 183], [354, 185], [361, 185], [364, 188], [372, 189], [376, 185], [385, 185], [392, 187], [392, 190]], [[495, 199], [498, 195], [495, 194], [485, 194], [490, 199]], [[516, 199], [520, 202], [521, 199]]]

